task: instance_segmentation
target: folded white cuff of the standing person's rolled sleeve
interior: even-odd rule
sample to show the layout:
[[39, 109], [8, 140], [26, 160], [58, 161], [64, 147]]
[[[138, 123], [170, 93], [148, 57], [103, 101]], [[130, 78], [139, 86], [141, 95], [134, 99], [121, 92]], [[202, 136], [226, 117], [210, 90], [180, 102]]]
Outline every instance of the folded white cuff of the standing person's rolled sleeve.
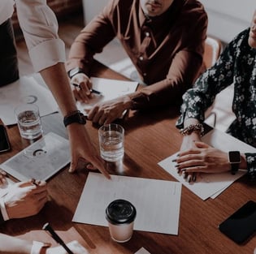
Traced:
[[65, 62], [65, 45], [61, 39], [43, 41], [29, 50], [29, 56], [36, 72]]

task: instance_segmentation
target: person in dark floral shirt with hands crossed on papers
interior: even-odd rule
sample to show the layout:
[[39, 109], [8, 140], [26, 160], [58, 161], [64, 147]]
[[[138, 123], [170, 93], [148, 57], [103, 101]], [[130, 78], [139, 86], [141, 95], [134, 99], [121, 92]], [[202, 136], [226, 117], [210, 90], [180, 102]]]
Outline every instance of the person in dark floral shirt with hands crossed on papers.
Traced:
[[256, 11], [250, 28], [239, 33], [223, 50], [213, 67], [206, 70], [183, 96], [181, 115], [176, 123], [184, 135], [176, 167], [187, 180], [197, 172], [220, 173], [247, 170], [256, 179], [256, 153], [225, 153], [201, 142], [206, 109], [215, 96], [234, 84], [232, 110], [236, 119], [228, 133], [256, 147]]

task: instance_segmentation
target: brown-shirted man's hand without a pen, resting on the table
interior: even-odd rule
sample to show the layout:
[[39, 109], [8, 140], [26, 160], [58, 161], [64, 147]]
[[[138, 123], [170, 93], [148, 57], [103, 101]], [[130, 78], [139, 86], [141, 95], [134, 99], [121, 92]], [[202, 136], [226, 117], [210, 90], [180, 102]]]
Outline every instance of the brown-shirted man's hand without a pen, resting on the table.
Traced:
[[131, 105], [132, 101], [128, 95], [100, 102], [89, 110], [88, 119], [100, 125], [112, 123], [116, 118], [122, 117], [124, 110], [130, 109]]

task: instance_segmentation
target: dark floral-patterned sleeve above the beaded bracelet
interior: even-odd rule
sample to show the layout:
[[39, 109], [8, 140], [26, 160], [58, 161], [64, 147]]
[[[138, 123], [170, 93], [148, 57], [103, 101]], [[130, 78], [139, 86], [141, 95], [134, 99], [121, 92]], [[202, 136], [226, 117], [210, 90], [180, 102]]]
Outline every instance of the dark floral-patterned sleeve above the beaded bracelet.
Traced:
[[213, 67], [206, 70], [183, 95], [183, 104], [180, 107], [180, 118], [177, 128], [183, 128], [185, 118], [197, 118], [204, 121], [205, 111], [215, 101], [215, 96], [224, 88], [233, 83], [237, 50], [241, 44], [241, 33], [223, 50]]

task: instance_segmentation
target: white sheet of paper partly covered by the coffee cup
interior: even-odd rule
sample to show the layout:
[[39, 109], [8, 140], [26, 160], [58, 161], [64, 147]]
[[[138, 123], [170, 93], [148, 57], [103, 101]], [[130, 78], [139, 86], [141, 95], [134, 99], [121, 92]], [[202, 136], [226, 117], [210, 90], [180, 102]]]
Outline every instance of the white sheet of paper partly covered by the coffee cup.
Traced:
[[124, 199], [137, 209], [134, 230], [177, 235], [180, 196], [178, 182], [90, 172], [72, 221], [107, 226], [107, 205]]

